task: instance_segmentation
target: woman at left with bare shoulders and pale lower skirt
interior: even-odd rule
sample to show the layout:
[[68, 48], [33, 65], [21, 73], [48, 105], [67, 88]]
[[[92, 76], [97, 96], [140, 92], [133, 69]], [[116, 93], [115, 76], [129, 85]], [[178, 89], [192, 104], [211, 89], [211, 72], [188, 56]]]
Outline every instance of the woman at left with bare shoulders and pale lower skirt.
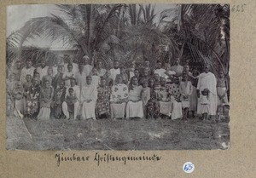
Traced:
[[38, 120], [48, 120], [50, 115], [50, 104], [54, 96], [54, 89], [49, 85], [49, 81], [44, 81], [44, 86], [41, 89], [40, 95], [40, 110]]

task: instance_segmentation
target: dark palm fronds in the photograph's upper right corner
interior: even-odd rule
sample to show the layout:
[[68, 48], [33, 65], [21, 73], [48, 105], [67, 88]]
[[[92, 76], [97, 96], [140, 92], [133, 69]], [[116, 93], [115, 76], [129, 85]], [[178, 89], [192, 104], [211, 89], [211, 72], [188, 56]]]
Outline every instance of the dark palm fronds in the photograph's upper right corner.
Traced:
[[[175, 37], [180, 57], [188, 48], [192, 60], [227, 74], [230, 60], [230, 7], [220, 4], [180, 4], [165, 33]], [[175, 26], [173, 26], [175, 24]]]

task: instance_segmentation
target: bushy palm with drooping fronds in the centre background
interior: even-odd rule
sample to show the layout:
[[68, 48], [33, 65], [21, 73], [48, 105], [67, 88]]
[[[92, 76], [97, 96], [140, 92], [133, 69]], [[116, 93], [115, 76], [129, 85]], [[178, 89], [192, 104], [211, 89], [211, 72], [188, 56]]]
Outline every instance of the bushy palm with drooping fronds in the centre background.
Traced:
[[127, 62], [146, 58], [151, 61], [151, 66], [154, 66], [157, 60], [164, 60], [166, 55], [169, 58], [177, 54], [177, 44], [173, 38], [162, 33], [160, 26], [155, 26], [154, 6], [130, 4], [127, 16], [130, 23], [125, 32], [128, 35], [122, 39]]

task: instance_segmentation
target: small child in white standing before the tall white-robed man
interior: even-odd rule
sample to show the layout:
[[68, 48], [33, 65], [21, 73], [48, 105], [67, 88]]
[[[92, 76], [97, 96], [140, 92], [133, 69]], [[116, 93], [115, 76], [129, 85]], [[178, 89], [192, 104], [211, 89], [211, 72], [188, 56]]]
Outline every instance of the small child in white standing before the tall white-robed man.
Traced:
[[207, 120], [208, 118], [208, 114], [209, 114], [209, 111], [210, 111], [210, 102], [208, 100], [208, 93], [209, 93], [209, 89], [203, 89], [201, 91], [201, 101], [200, 101], [200, 104], [201, 104], [201, 114], [202, 114], [202, 117], [203, 117], [203, 120]]

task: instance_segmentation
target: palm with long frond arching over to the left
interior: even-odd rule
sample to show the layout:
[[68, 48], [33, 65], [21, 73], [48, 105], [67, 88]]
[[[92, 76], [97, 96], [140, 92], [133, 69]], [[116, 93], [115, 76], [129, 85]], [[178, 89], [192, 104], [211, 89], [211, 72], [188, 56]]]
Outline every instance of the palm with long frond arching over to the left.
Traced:
[[[52, 41], [61, 40], [77, 50], [79, 59], [82, 55], [93, 58], [101, 50], [102, 44], [116, 43], [109, 27], [117, 10], [122, 4], [100, 5], [56, 5], [61, 15], [50, 14], [46, 17], [33, 18], [20, 29], [20, 51], [22, 44], [33, 37], [49, 37]], [[21, 54], [21, 52], [20, 52]], [[102, 59], [106, 60], [106, 59]], [[108, 62], [105, 61], [106, 63]]]

